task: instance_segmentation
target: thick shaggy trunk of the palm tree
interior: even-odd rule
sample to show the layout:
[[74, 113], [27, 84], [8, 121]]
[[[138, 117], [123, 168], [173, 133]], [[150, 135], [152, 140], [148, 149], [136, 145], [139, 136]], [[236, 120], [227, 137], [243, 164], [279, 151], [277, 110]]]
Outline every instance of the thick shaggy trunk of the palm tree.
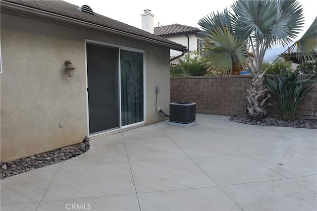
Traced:
[[259, 75], [256, 78], [253, 78], [252, 84], [247, 90], [248, 95], [246, 98], [248, 99], [249, 105], [246, 109], [246, 114], [250, 118], [264, 118], [267, 115], [267, 106], [271, 106], [271, 104], [266, 103], [266, 100], [270, 98], [270, 94], [268, 94], [268, 90], [265, 86], [264, 75]]

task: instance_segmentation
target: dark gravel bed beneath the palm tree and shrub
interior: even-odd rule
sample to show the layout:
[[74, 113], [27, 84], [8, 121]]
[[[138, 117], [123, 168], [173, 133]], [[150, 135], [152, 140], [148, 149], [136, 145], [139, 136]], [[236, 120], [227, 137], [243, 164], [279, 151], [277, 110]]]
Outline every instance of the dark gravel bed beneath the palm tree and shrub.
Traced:
[[230, 117], [231, 121], [243, 124], [261, 125], [261, 126], [275, 126], [275, 127], [296, 127], [317, 129], [317, 119], [295, 119], [293, 121], [284, 121], [275, 117], [265, 117], [262, 120], [254, 120], [247, 117], [247, 115], [236, 114]]

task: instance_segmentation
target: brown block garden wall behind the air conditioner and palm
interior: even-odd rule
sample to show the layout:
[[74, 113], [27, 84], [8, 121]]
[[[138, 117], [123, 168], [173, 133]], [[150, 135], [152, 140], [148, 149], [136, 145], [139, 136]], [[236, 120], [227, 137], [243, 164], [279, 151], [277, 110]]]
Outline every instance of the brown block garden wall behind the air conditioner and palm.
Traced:
[[[240, 75], [227, 78], [215, 76], [172, 77], [170, 101], [195, 102], [197, 113], [234, 115], [245, 113], [247, 92], [252, 76]], [[313, 86], [317, 87], [317, 83]], [[317, 88], [316, 88], [317, 89]], [[268, 112], [278, 116], [277, 105], [272, 97]], [[317, 119], [317, 93], [306, 96], [296, 112], [296, 118]]]

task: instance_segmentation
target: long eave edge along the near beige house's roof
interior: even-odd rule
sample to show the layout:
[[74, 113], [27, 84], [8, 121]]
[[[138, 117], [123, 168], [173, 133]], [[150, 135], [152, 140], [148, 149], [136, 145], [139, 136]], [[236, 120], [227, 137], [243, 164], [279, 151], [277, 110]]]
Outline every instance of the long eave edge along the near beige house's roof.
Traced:
[[143, 36], [136, 35], [133, 33], [120, 31], [120, 30], [113, 29], [110, 27], [101, 26], [101, 25], [94, 24], [94, 23], [89, 23], [86, 21], [66, 17], [66, 16], [59, 15], [59, 14], [54, 14], [54, 13], [43, 11], [40, 9], [35, 9], [35, 8], [23, 6], [20, 4], [14, 4], [11, 2], [1, 0], [0, 6], [1, 6], [1, 12], [7, 12], [7, 13], [11, 13], [13, 15], [17, 15], [16, 12], [20, 12], [19, 14], [21, 16], [24, 16], [24, 17], [30, 17], [32, 15], [33, 16], [36, 15], [37, 18], [40, 16], [41, 18], [44, 18], [47, 21], [57, 22], [61, 25], [67, 25], [68, 27], [70, 26], [69, 24], [71, 24], [72, 26], [81, 26], [80, 27], [81, 29], [82, 29], [82, 27], [85, 27], [85, 28], [91, 29], [91, 30], [97, 30], [97, 31], [115, 34], [115, 35], [120, 35], [120, 36], [124, 36], [124, 37], [128, 37], [128, 38], [132, 38], [135, 40], [140, 40], [140, 41], [144, 41], [147, 43], [152, 43], [152, 44], [156, 44], [159, 46], [164, 46], [164, 47], [167, 47], [169, 49], [176, 50], [176, 51], [181, 51], [181, 52], [188, 51], [186, 49], [186, 47], [181, 46], [181, 45], [173, 45], [173, 44], [170, 44], [167, 42], [165, 43], [165, 42], [162, 42], [159, 40], [143, 37]]

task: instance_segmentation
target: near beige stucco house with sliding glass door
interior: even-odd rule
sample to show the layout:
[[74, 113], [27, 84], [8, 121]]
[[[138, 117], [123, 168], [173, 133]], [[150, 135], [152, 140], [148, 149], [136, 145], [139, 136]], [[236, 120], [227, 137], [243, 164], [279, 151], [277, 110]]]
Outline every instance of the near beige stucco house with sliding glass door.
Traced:
[[165, 119], [156, 112], [155, 88], [168, 113], [169, 52], [186, 52], [185, 46], [87, 5], [1, 0], [0, 6], [2, 162]]

